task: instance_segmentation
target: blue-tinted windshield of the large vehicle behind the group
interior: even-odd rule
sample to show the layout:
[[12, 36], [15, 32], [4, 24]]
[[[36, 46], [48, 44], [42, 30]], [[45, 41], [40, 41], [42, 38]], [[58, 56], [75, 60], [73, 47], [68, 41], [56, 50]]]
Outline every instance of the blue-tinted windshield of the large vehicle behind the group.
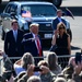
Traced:
[[30, 11], [32, 16], [56, 16], [56, 9], [48, 4], [24, 4], [21, 7], [21, 13]]

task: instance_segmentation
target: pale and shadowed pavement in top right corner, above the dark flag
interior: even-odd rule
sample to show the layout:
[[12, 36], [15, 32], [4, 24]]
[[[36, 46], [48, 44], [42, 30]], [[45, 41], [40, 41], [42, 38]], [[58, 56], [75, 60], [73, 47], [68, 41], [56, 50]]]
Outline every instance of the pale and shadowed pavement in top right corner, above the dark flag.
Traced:
[[68, 8], [74, 16], [82, 16], [82, 0], [63, 0], [60, 9], [65, 10], [66, 8]]

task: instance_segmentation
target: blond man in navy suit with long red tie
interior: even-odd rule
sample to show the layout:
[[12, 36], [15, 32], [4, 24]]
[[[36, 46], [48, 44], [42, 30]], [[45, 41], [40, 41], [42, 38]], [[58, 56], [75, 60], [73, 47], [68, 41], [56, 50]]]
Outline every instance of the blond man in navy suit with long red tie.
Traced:
[[[24, 46], [24, 52], [28, 51], [34, 57], [43, 57], [42, 39], [38, 35], [38, 27], [39, 24], [32, 23], [30, 25], [30, 33], [26, 33], [23, 36], [23, 40], [22, 40]], [[37, 63], [40, 59], [35, 59], [35, 63]]]

